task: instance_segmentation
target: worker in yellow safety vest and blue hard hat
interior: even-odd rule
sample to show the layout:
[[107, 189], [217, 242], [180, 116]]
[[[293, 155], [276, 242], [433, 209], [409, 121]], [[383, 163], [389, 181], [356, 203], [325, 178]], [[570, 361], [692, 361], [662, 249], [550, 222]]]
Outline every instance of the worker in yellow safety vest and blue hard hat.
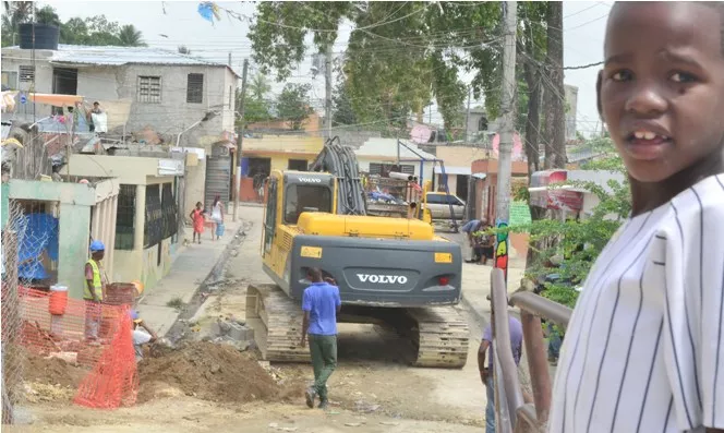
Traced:
[[101, 318], [101, 302], [104, 300], [104, 289], [108, 279], [104, 272], [102, 261], [106, 253], [106, 246], [101, 241], [90, 242], [90, 258], [85, 263], [85, 338], [95, 342], [98, 339], [98, 328]]

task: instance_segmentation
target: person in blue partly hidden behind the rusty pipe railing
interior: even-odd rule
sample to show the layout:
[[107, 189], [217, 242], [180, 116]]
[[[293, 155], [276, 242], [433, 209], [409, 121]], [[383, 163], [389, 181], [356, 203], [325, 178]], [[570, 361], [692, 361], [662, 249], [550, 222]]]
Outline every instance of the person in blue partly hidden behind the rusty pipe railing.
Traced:
[[[510, 347], [512, 348], [512, 359], [516, 361], [516, 366], [520, 363], [520, 354], [522, 353], [523, 344], [523, 326], [519, 320], [510, 315]], [[493, 312], [491, 312], [491, 323], [493, 322]], [[485, 365], [485, 352], [491, 348], [491, 356], [488, 357], [487, 366]], [[485, 408], [485, 433], [495, 433], [495, 383], [493, 381], [493, 328], [491, 324], [487, 325], [483, 332], [483, 340], [480, 342], [478, 350], [478, 369], [480, 370], [480, 377], [487, 388], [487, 407]]]

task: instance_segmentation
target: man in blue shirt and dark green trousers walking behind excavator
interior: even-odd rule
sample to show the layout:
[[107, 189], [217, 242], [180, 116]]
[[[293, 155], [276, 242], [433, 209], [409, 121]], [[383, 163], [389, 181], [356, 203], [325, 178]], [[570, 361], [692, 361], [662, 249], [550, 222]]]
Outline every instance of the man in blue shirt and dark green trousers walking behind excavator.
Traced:
[[[339, 288], [323, 280], [322, 270], [312, 267], [307, 270], [312, 285], [304, 289], [302, 310], [301, 347], [310, 336], [310, 354], [314, 368], [314, 385], [306, 389], [306, 406], [314, 407], [314, 398], [319, 397], [319, 409], [326, 409], [327, 380], [337, 366], [337, 313], [341, 308]], [[334, 280], [333, 280], [334, 281]]]

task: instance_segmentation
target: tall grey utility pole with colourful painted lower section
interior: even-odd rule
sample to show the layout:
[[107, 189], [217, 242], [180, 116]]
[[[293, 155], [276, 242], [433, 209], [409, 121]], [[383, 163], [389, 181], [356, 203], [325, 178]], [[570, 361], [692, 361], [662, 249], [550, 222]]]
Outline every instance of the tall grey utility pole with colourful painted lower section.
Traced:
[[[503, 46], [503, 95], [500, 98], [500, 144], [498, 146], [498, 178], [495, 197], [495, 225], [508, 227], [510, 220], [510, 177], [512, 171], [512, 135], [515, 132], [516, 94], [516, 29], [518, 27], [518, 4], [516, 1], [503, 2], [504, 46]], [[507, 234], [498, 234], [495, 244], [495, 267], [503, 269], [508, 277], [508, 250], [510, 242]]]

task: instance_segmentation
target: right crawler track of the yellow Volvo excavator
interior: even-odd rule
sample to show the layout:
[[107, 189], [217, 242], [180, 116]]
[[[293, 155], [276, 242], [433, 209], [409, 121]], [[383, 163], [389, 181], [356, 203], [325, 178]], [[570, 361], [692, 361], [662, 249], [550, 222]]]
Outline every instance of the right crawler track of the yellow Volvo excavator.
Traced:
[[409, 309], [415, 325], [410, 338], [418, 349], [414, 366], [456, 369], [468, 361], [470, 329], [455, 306]]

